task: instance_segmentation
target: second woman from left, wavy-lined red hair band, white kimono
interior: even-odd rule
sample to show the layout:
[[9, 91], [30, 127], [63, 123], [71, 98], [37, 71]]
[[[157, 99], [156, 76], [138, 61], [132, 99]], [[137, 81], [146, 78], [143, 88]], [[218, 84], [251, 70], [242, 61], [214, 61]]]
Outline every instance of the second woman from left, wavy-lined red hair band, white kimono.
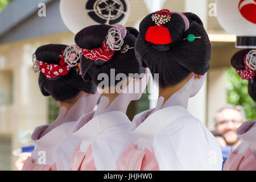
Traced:
[[131, 121], [126, 110], [141, 97], [148, 80], [135, 57], [137, 36], [135, 28], [119, 24], [89, 26], [75, 36], [82, 78], [92, 79], [102, 94], [97, 110], [81, 117], [73, 128], [82, 142], [71, 170], [115, 170], [122, 152], [135, 139], [127, 131]]

